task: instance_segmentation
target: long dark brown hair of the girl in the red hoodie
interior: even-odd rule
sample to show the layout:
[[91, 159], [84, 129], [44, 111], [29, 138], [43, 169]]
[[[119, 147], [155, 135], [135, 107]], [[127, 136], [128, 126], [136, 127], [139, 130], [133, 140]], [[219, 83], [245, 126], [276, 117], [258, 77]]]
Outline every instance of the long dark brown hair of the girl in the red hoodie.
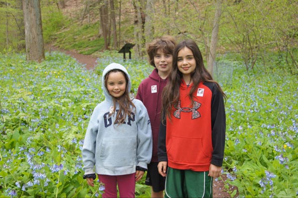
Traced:
[[[170, 113], [173, 106], [177, 106], [179, 102], [179, 87], [182, 81], [182, 73], [179, 71], [177, 66], [177, 56], [178, 52], [183, 49], [188, 48], [192, 51], [194, 59], [196, 61], [196, 68], [193, 73], [191, 73], [191, 79], [193, 80], [193, 86], [190, 89], [190, 92], [188, 94], [188, 97], [191, 99], [192, 103], [193, 100], [193, 93], [197, 89], [199, 83], [202, 82], [214, 82], [217, 85], [217, 88], [219, 91], [223, 94], [224, 98], [226, 98], [226, 95], [224, 94], [222, 88], [220, 85], [213, 80], [212, 75], [209, 73], [209, 71], [204, 66], [202, 53], [197, 46], [196, 42], [193, 40], [184, 40], [180, 42], [173, 54], [173, 66], [170, 71], [170, 74], [168, 75], [168, 83], [163, 88], [162, 91], [162, 116], [161, 118], [168, 117], [170, 119]], [[165, 120], [163, 120], [164, 122]]]

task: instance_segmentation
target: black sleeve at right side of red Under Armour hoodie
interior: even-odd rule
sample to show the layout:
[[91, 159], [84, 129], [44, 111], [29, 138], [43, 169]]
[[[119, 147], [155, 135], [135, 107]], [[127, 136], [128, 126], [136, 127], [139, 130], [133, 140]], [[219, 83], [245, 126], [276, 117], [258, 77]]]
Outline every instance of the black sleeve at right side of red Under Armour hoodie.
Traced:
[[223, 166], [225, 143], [224, 97], [214, 83], [211, 101], [211, 124], [213, 146], [211, 163], [216, 166]]

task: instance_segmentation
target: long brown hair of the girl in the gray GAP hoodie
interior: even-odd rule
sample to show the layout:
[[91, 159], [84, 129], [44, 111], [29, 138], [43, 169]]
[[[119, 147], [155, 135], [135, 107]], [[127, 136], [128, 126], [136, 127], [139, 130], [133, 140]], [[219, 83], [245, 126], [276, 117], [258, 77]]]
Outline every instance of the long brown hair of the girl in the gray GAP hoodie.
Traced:
[[109, 74], [111, 72], [121, 72], [125, 76], [125, 81], [126, 81], [125, 92], [119, 98], [115, 98], [112, 96], [114, 108], [113, 108], [113, 111], [110, 112], [110, 114], [109, 114], [109, 116], [111, 116], [112, 114], [114, 114], [116, 112], [116, 105], [118, 103], [119, 111], [117, 112], [114, 125], [115, 124], [123, 124], [126, 117], [131, 116], [131, 113], [133, 112], [134, 109], [136, 109], [136, 106], [134, 105], [134, 103], [132, 102], [132, 100], [130, 98], [129, 91], [128, 91], [128, 82], [129, 81], [128, 81], [128, 77], [124, 71], [122, 71], [120, 69], [112, 69], [109, 72], [107, 72], [107, 74], [104, 76], [104, 86], [107, 87], [107, 80], [108, 80]]

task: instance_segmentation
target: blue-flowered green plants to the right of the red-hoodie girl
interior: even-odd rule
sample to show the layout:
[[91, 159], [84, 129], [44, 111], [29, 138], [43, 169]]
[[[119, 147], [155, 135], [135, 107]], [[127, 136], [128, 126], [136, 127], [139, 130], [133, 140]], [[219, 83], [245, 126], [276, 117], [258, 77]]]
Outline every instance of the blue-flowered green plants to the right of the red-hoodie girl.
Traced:
[[239, 197], [296, 197], [298, 80], [278, 67], [258, 68], [245, 73], [234, 66], [224, 85], [228, 183]]

